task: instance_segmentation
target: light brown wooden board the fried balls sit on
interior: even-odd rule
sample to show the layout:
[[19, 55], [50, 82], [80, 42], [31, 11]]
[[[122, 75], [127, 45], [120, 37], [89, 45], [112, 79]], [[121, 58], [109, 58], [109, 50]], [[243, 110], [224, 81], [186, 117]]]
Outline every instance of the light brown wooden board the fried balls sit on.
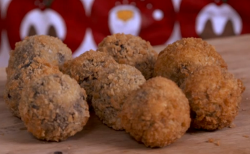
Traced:
[[[229, 71], [246, 86], [234, 128], [215, 132], [188, 131], [164, 148], [150, 149], [137, 143], [124, 131], [103, 125], [95, 115], [84, 130], [66, 141], [44, 142], [27, 132], [22, 121], [8, 111], [3, 101], [5, 69], [0, 68], [0, 154], [100, 154], [100, 153], [185, 153], [250, 154], [250, 35], [208, 40], [228, 63]], [[161, 51], [165, 46], [155, 47]], [[214, 143], [207, 142], [209, 139]]]

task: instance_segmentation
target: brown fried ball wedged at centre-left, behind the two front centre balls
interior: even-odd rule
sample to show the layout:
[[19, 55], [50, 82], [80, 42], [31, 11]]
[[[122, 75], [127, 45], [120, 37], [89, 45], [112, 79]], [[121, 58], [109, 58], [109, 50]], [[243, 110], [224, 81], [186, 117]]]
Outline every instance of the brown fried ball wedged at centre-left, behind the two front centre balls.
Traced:
[[66, 62], [60, 70], [74, 78], [86, 90], [87, 102], [91, 104], [93, 81], [97, 79], [97, 73], [112, 65], [117, 63], [111, 56], [104, 52], [90, 50]]

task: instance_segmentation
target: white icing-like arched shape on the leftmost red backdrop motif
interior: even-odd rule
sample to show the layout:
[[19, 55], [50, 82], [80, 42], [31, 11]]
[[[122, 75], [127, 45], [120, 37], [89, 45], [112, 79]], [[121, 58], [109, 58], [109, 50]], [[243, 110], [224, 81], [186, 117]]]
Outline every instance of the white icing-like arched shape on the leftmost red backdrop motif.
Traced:
[[38, 35], [48, 33], [49, 26], [54, 26], [57, 32], [57, 37], [64, 40], [66, 35], [66, 26], [63, 18], [51, 9], [41, 11], [34, 9], [27, 13], [20, 26], [20, 36], [25, 38], [28, 35], [29, 27], [33, 25]]

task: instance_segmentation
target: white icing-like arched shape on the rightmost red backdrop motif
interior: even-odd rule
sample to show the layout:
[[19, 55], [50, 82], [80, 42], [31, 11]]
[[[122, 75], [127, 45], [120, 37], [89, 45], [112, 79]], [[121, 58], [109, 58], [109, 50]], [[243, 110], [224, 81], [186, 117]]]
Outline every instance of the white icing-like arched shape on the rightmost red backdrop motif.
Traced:
[[196, 18], [196, 32], [201, 34], [206, 22], [211, 20], [213, 30], [216, 35], [221, 35], [227, 21], [231, 20], [234, 33], [239, 35], [242, 30], [242, 20], [239, 14], [228, 4], [216, 5], [210, 3], [206, 5]]

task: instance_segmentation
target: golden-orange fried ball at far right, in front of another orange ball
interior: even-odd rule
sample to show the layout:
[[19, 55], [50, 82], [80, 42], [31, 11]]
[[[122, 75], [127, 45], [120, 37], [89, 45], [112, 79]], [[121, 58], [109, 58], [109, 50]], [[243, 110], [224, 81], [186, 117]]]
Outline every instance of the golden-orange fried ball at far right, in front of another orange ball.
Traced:
[[198, 68], [181, 85], [190, 108], [192, 127], [216, 130], [227, 127], [238, 114], [243, 83], [219, 66]]

